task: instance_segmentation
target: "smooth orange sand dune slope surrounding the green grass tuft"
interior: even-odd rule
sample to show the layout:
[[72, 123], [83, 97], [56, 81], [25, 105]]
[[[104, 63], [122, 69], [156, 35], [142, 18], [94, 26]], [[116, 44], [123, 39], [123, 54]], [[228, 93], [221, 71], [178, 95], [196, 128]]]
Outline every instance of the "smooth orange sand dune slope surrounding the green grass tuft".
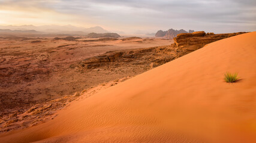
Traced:
[[[0, 141], [256, 142], [255, 39], [210, 43]], [[225, 83], [225, 71], [241, 80]]]

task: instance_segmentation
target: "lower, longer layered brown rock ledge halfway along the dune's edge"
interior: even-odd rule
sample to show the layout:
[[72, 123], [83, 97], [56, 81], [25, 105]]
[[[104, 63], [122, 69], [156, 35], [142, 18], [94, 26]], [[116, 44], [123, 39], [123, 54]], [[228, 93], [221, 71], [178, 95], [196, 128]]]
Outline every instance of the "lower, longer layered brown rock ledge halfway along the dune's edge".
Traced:
[[80, 69], [127, 69], [131, 67], [131, 69], [134, 68], [132, 70], [138, 70], [136, 72], [141, 73], [173, 60], [177, 57], [176, 54], [171, 46], [111, 51], [85, 59], [79, 63], [79, 67]]

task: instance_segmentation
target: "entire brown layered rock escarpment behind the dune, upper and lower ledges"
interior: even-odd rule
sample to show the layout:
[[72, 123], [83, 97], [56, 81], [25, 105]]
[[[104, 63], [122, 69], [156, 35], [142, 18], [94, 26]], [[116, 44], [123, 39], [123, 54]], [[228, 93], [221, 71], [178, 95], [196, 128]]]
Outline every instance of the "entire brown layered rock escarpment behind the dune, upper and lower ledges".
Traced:
[[208, 43], [242, 33], [245, 32], [216, 35], [205, 32], [182, 33], [177, 35], [177, 38], [174, 38], [174, 43], [168, 46], [106, 52], [106, 54], [81, 61], [77, 67], [80, 71], [92, 69], [122, 70], [127, 67], [130, 68], [130, 71], [137, 70], [136, 73], [142, 73], [200, 49]]

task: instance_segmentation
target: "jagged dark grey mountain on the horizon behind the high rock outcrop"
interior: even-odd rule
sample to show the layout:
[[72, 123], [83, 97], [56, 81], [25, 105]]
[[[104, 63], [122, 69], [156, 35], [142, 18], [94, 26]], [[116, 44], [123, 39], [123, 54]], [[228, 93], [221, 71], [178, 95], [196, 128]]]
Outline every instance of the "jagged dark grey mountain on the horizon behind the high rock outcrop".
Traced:
[[180, 29], [180, 30], [169, 29], [168, 31], [158, 30], [158, 32], [156, 32], [155, 36], [173, 39], [180, 33], [193, 33], [193, 32], [194, 32], [194, 30], [189, 30], [189, 32], [186, 32], [183, 29]]

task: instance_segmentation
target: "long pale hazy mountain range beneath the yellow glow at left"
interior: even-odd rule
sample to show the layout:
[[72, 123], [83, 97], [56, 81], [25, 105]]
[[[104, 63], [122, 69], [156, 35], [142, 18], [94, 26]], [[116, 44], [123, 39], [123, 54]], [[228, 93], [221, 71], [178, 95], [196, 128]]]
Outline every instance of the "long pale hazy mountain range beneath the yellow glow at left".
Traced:
[[109, 31], [103, 29], [100, 26], [95, 27], [76, 27], [72, 25], [58, 26], [58, 25], [44, 25], [44, 26], [33, 26], [33, 25], [23, 25], [23, 26], [0, 26], [0, 29], [10, 29], [10, 30], [36, 30], [38, 32], [46, 33], [59, 33], [59, 34], [71, 34], [71, 35], [85, 35], [88, 33], [107, 33]]

